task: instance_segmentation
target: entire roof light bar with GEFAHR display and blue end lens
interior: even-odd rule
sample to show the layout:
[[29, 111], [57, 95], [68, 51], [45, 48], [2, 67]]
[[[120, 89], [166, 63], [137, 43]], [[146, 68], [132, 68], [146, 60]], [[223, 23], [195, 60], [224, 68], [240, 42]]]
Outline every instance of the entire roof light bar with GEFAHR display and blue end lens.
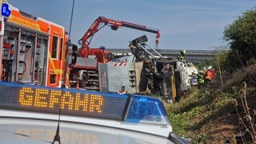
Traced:
[[106, 118], [125, 122], [170, 124], [158, 98], [0, 82], [0, 108]]

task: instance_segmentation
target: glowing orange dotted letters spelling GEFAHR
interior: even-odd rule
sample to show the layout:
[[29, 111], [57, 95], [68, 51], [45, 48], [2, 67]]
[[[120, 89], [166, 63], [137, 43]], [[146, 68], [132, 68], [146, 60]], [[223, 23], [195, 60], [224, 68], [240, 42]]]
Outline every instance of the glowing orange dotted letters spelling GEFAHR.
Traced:
[[68, 91], [22, 88], [19, 94], [22, 106], [36, 106], [61, 109], [82, 110], [102, 113], [103, 98], [98, 94], [71, 94]]

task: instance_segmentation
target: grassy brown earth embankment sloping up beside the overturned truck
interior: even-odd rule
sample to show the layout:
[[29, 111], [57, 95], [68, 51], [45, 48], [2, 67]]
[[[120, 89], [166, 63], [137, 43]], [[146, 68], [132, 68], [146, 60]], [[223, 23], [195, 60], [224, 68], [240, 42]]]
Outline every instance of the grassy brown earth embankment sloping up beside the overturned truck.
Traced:
[[[246, 91], [251, 110], [255, 107], [256, 99], [256, 66], [252, 66], [248, 73], [246, 70], [226, 78], [224, 88], [216, 78], [201, 88], [193, 88], [187, 98], [169, 106], [167, 112], [174, 132], [192, 138], [191, 143], [223, 143], [232, 138], [241, 142], [236, 137], [242, 129], [233, 101], [235, 99], [241, 105], [239, 90], [243, 81], [250, 85]], [[242, 107], [238, 107], [238, 110], [238, 113], [244, 115]]]

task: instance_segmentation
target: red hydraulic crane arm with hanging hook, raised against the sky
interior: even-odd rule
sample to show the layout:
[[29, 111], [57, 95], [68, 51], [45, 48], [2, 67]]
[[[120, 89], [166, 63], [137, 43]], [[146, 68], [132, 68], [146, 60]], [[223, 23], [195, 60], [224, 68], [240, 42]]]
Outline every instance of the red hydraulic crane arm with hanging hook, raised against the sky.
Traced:
[[103, 26], [106, 26], [106, 25], [110, 26], [112, 30], [118, 30], [119, 27], [123, 26], [123, 27], [128, 27], [130, 29], [134, 29], [134, 30], [142, 30], [149, 33], [157, 34], [156, 45], [158, 45], [158, 38], [160, 38], [160, 33], [159, 33], [159, 30], [157, 29], [137, 25], [130, 22], [117, 21], [117, 20], [105, 18], [105, 17], [98, 17], [94, 21], [94, 23], [90, 26], [89, 30], [86, 31], [86, 34], [84, 34], [83, 37], [78, 41], [78, 44], [82, 45], [82, 49], [84, 50], [89, 49], [91, 38], [93, 38], [94, 34], [96, 34], [98, 30], [102, 29], [103, 27], [102, 24], [104, 24]]

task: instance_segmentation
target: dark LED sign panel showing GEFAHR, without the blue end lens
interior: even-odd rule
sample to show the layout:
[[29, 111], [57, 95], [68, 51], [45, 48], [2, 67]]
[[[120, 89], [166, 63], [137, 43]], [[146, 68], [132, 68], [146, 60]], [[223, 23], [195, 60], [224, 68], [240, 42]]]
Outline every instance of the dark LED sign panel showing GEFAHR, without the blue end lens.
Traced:
[[49, 88], [0, 82], [0, 106], [8, 110], [26, 110], [82, 117], [124, 117], [126, 94], [99, 93], [90, 90]]

